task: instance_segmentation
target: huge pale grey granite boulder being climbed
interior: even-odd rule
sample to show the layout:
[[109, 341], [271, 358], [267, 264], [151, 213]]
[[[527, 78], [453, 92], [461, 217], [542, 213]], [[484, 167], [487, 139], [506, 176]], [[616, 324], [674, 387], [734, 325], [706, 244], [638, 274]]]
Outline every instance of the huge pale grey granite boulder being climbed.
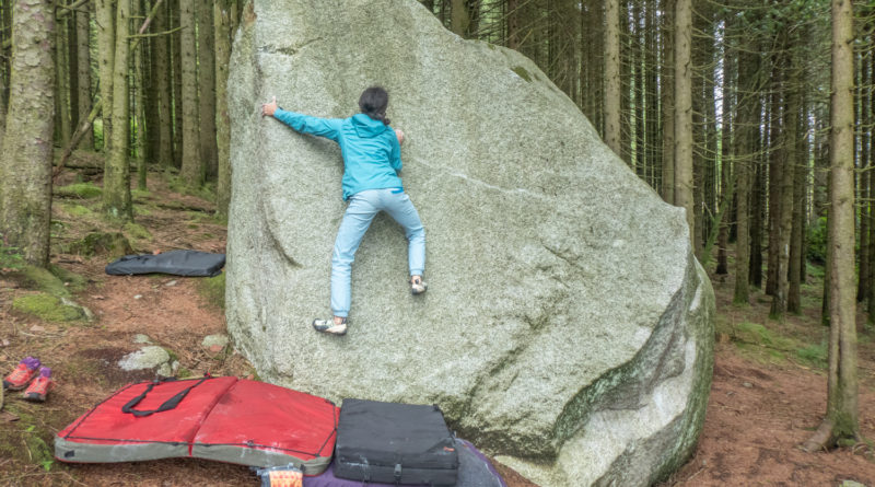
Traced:
[[[329, 316], [345, 210], [337, 146], [260, 104], [340, 118], [371, 84], [402, 128], [429, 291], [380, 216]], [[226, 310], [261, 378], [339, 402], [439, 404], [541, 486], [649, 485], [704, 418], [714, 299], [681, 209], [602, 143], [528, 59], [445, 31], [415, 0], [255, 0], [234, 44]]]

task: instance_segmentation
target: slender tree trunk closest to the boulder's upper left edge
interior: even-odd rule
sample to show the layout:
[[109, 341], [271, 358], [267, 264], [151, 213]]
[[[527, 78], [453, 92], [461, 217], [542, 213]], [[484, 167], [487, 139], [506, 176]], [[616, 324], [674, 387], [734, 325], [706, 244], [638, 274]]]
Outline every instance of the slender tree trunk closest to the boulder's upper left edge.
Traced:
[[215, 184], [215, 207], [220, 218], [228, 218], [231, 202], [231, 117], [228, 108], [228, 63], [236, 20], [236, 0], [214, 3], [215, 20], [215, 139], [219, 177]]

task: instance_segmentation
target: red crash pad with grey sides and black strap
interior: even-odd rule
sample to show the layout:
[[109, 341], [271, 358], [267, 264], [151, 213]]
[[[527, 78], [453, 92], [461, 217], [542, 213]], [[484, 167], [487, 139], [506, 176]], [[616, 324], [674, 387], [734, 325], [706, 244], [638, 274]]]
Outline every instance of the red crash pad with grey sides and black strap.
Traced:
[[179, 456], [262, 467], [292, 463], [316, 475], [331, 460], [338, 411], [327, 399], [236, 378], [141, 382], [60, 431], [55, 456], [77, 463]]

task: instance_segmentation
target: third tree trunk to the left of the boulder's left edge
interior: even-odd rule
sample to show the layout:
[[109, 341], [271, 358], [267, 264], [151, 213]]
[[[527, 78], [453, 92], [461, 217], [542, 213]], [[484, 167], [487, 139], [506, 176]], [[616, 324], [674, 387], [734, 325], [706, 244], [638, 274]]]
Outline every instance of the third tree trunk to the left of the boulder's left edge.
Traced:
[[200, 160], [200, 136], [198, 134], [198, 74], [195, 32], [195, 5], [197, 0], [179, 0], [179, 49], [183, 74], [183, 167], [179, 177], [190, 187], [203, 183], [203, 164]]

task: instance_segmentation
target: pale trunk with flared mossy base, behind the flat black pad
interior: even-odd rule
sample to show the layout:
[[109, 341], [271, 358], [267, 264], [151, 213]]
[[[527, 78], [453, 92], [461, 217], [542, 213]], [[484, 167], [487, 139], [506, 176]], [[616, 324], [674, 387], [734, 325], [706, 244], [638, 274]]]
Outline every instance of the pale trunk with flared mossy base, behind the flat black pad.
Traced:
[[128, 91], [130, 3], [116, 7], [116, 45], [113, 66], [113, 131], [103, 176], [103, 211], [114, 219], [133, 219], [130, 199], [130, 100]]

